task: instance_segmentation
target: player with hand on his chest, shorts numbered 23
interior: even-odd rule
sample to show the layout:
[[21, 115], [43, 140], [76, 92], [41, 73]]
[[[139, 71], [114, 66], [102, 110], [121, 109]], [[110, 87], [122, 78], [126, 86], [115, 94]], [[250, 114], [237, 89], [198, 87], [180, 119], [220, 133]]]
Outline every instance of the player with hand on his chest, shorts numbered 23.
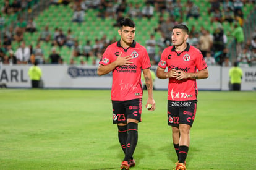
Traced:
[[100, 60], [98, 75], [112, 72], [111, 100], [113, 123], [117, 124], [118, 138], [124, 151], [122, 170], [135, 166], [133, 154], [138, 141], [138, 123], [142, 114], [141, 71], [145, 77], [150, 111], [155, 110], [150, 59], [147, 50], [134, 40], [135, 23], [124, 18], [119, 23], [120, 40], [109, 45]]

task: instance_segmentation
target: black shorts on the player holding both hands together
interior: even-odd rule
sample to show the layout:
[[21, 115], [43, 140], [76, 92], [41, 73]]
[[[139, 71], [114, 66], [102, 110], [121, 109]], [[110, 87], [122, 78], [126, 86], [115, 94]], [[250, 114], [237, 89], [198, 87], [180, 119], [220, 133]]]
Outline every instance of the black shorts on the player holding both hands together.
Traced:
[[197, 111], [197, 101], [168, 100], [168, 125], [178, 127], [187, 124], [192, 127]]

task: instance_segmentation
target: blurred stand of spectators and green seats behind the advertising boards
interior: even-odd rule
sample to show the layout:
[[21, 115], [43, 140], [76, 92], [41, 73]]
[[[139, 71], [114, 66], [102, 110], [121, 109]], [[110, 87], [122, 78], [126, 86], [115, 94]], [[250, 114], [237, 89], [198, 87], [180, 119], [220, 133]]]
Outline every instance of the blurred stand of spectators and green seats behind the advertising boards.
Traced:
[[96, 65], [117, 41], [118, 22], [136, 23], [135, 41], [158, 64], [177, 23], [208, 66], [256, 67], [254, 0], [0, 0], [0, 64]]

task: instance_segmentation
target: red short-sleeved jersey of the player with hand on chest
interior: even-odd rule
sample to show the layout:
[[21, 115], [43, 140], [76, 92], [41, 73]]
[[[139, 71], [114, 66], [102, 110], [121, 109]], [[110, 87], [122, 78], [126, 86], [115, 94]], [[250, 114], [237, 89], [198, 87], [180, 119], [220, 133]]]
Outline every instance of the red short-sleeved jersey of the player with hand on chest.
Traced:
[[144, 46], [134, 41], [131, 46], [124, 49], [120, 41], [117, 41], [106, 48], [99, 64], [105, 66], [114, 62], [121, 52], [121, 57], [132, 56], [133, 59], [129, 61], [133, 63], [130, 66], [117, 66], [112, 71], [111, 100], [125, 101], [142, 98], [141, 72], [142, 69], [151, 67], [150, 59]]

